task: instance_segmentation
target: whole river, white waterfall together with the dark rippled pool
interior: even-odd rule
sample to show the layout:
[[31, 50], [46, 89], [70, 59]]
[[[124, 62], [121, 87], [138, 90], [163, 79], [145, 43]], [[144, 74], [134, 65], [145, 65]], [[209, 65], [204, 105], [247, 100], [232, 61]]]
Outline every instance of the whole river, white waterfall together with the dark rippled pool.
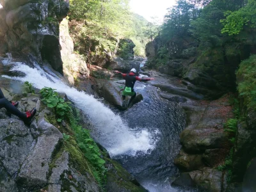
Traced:
[[[4, 58], [0, 68], [12, 68], [1, 78], [29, 81], [35, 88], [47, 86], [65, 93], [93, 122], [93, 138], [142, 186], [150, 192], [184, 191], [170, 186], [170, 180], [178, 173], [173, 158], [179, 153], [179, 133], [185, 126], [184, 112], [177, 104], [161, 99], [156, 87], [136, 83], [135, 91], [143, 95], [143, 101], [127, 111], [113, 111], [92, 95], [79, 92], [49, 70], [45, 72], [34, 65], [33, 68]], [[13, 72], [16, 76], [12, 76]]]

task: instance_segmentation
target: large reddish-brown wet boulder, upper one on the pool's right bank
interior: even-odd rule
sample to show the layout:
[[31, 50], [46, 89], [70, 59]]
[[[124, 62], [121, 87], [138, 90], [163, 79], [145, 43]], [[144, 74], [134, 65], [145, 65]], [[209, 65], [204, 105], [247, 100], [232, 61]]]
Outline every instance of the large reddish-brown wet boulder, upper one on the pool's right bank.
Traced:
[[[232, 117], [232, 108], [227, 106], [228, 97], [210, 103], [198, 103], [190, 108], [188, 126], [180, 134], [180, 142], [186, 152], [204, 152], [210, 148], [228, 148], [228, 134], [223, 124]], [[195, 112], [195, 113], [194, 113]]]

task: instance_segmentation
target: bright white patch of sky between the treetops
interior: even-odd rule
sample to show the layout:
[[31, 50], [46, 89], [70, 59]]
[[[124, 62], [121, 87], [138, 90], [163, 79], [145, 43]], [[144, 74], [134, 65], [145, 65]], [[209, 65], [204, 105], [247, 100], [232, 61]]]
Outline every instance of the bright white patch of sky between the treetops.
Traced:
[[175, 4], [176, 0], [130, 0], [131, 10], [152, 22], [150, 17], [163, 20], [167, 8]]

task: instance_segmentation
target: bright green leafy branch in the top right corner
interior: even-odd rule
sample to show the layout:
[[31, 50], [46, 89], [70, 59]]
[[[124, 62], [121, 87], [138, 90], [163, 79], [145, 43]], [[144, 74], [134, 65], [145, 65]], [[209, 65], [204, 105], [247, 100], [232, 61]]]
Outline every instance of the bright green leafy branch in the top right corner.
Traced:
[[228, 33], [228, 35], [237, 35], [244, 29], [244, 26], [249, 28], [256, 28], [256, 2], [255, 0], [248, 0], [246, 6], [241, 9], [231, 12], [225, 12], [226, 19], [221, 19], [224, 28], [221, 33]]

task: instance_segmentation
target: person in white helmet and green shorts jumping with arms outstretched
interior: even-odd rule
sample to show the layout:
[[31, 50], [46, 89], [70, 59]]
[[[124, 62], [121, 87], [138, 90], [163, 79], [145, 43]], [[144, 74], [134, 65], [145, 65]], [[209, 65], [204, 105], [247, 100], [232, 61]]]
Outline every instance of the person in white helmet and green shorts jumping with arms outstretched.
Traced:
[[[122, 74], [122, 72], [119, 72], [118, 70], [115, 70], [116, 73]], [[131, 96], [131, 99], [129, 100], [129, 104], [131, 104], [132, 100], [136, 97], [136, 92], [134, 92], [134, 84], [136, 81], [150, 81], [154, 80], [154, 78], [140, 78], [136, 76], [136, 69], [132, 68], [131, 71], [127, 74], [122, 74], [123, 78], [125, 79], [125, 88], [122, 93], [122, 99], [123, 99], [123, 104], [125, 97], [127, 95]]]

